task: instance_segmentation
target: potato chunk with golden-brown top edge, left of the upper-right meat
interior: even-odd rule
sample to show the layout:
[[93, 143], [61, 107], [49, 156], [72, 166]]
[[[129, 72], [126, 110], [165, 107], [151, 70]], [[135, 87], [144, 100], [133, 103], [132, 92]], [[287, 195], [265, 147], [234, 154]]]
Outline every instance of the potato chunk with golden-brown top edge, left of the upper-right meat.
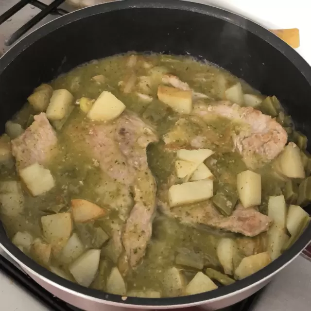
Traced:
[[158, 99], [181, 114], [190, 114], [192, 110], [192, 91], [183, 91], [171, 86], [159, 86]]

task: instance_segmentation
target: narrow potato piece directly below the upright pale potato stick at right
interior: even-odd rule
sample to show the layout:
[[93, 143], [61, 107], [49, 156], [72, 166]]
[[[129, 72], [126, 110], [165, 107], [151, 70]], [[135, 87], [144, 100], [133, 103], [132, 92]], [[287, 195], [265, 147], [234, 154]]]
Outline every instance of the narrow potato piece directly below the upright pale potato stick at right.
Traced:
[[271, 226], [268, 231], [268, 252], [271, 260], [275, 260], [281, 255], [281, 250], [284, 243], [289, 239], [286, 235], [284, 228], [279, 227], [277, 224]]

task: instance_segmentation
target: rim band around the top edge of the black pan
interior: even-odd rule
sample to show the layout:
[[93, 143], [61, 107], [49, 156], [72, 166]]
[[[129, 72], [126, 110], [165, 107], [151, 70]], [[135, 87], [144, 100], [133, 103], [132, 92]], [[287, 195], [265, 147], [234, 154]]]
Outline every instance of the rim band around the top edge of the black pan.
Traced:
[[[10, 63], [17, 57], [19, 53], [27, 49], [28, 46], [39, 40], [44, 35], [47, 35], [54, 30], [65, 26], [68, 23], [77, 21], [81, 18], [104, 14], [110, 11], [118, 11], [123, 9], [135, 9], [135, 8], [162, 8], [162, 9], [175, 9], [184, 10], [195, 13], [200, 13], [207, 16], [216, 17], [226, 22], [235, 24], [254, 35], [259, 36], [267, 43], [272, 45], [276, 50], [281, 52], [286, 58], [288, 58], [294, 66], [303, 74], [311, 87], [311, 67], [309, 64], [297, 53], [288, 46], [285, 42], [279, 39], [276, 35], [272, 34], [259, 24], [248, 20], [244, 17], [230, 13], [220, 8], [212, 7], [205, 4], [199, 4], [195, 2], [180, 1], [180, 0], [155, 0], [141, 2], [139, 0], [119, 0], [114, 2], [108, 2], [98, 4], [92, 7], [83, 8], [75, 12], [69, 13], [65, 16], [58, 17], [49, 23], [41, 26], [31, 34], [24, 37], [16, 45], [8, 50], [0, 58], [0, 75], [10, 65]], [[4, 232], [0, 228], [0, 233]], [[124, 307], [157, 307], [165, 308], [168, 306], [183, 307], [194, 306], [202, 304], [204, 302], [214, 302], [228, 297], [238, 292], [242, 292], [259, 283], [262, 283], [265, 279], [275, 275], [284, 266], [289, 264], [305, 246], [311, 240], [311, 225], [306, 228], [300, 238], [294, 243], [294, 245], [283, 253], [279, 258], [271, 262], [267, 267], [263, 268], [259, 272], [252, 276], [246, 277], [234, 284], [218, 288], [217, 290], [206, 292], [202, 294], [195, 294], [191, 296], [170, 297], [170, 298], [138, 298], [128, 297], [126, 300], [122, 299], [122, 296], [115, 294], [108, 294], [94, 289], [89, 289], [59, 276], [56, 276], [46, 268], [37, 264], [34, 260], [23, 254], [8, 238], [5, 234], [0, 234], [0, 245], [3, 249], [17, 262], [19, 262], [26, 269], [31, 270], [35, 275], [43, 278], [46, 282], [53, 286], [63, 289], [64, 291], [71, 292], [72, 294], [79, 294], [87, 299], [99, 301], [101, 303], [107, 303], [111, 305], [123, 305]]]

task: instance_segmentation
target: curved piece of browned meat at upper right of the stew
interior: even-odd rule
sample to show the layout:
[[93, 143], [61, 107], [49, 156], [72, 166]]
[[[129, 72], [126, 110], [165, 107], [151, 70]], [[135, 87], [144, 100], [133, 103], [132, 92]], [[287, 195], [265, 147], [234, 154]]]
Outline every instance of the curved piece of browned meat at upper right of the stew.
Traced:
[[233, 121], [235, 130], [232, 139], [235, 149], [250, 168], [258, 166], [259, 162], [273, 160], [287, 142], [284, 128], [275, 119], [252, 107], [222, 101], [208, 106], [195, 105], [192, 113], [207, 122], [215, 115]]

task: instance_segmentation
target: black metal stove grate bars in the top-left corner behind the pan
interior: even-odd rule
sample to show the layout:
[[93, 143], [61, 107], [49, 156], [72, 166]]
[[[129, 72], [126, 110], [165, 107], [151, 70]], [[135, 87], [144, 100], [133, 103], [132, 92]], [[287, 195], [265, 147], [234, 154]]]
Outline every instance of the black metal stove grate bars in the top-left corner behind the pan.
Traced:
[[11, 36], [9, 36], [5, 40], [5, 45], [10, 46], [15, 43], [22, 35], [26, 34], [28, 30], [34, 27], [40, 20], [42, 20], [49, 14], [58, 16], [67, 14], [68, 12], [66, 10], [58, 8], [58, 6], [61, 5], [63, 2], [65, 2], [65, 0], [54, 0], [50, 4], [45, 4], [38, 0], [20, 0], [19, 2], [17, 2], [13, 7], [8, 9], [0, 16], [0, 25], [3, 24], [10, 17], [12, 17], [14, 14], [16, 14], [18, 11], [20, 11], [27, 4], [33, 5], [41, 11], [37, 15], [32, 17], [23, 26], [18, 28], [17, 31], [15, 31]]

